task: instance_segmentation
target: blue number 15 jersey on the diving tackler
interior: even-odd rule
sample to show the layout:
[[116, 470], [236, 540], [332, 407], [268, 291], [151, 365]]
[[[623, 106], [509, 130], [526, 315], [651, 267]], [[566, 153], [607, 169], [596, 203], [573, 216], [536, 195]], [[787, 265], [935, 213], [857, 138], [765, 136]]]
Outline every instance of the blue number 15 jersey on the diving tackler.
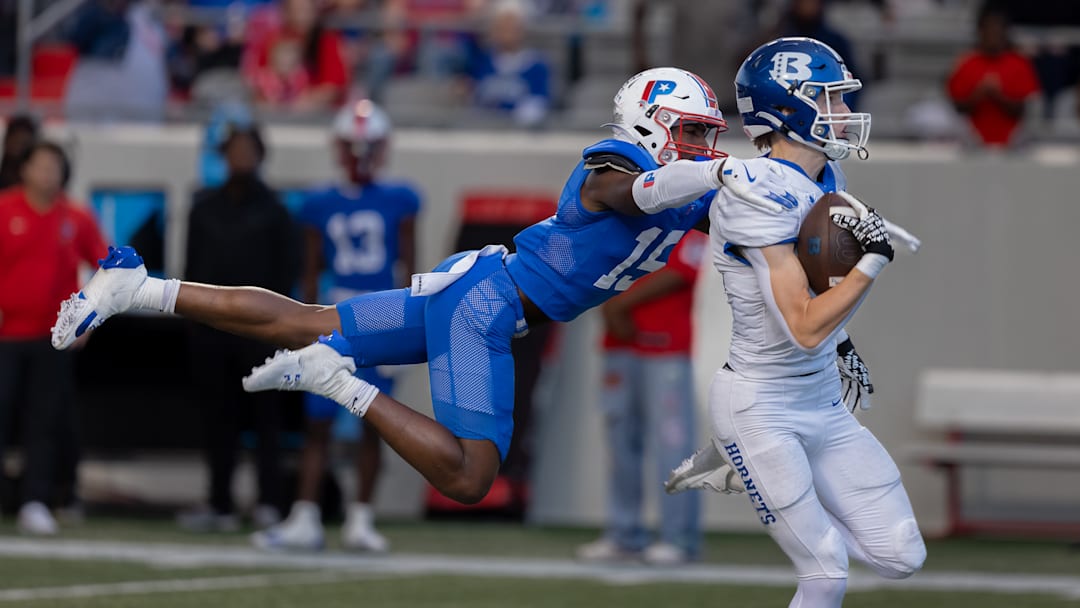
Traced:
[[657, 168], [652, 157], [633, 144], [605, 139], [585, 148], [563, 188], [558, 211], [521, 231], [514, 238], [517, 254], [507, 261], [518, 288], [553, 321], [570, 321], [662, 268], [683, 234], [707, 217], [715, 193], [653, 215], [589, 211], [580, 195], [590, 171], [584, 159], [598, 153], [624, 157], [642, 171]]

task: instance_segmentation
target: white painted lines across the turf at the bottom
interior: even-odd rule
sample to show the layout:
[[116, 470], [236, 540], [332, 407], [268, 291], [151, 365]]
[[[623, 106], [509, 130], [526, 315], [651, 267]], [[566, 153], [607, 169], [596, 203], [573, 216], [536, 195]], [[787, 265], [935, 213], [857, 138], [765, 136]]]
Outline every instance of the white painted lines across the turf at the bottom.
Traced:
[[[245, 567], [288, 568], [319, 570], [328, 580], [342, 576], [416, 576], [449, 575], [470, 577], [498, 577], [525, 579], [576, 579], [615, 584], [643, 584], [661, 582], [740, 584], [750, 586], [794, 586], [791, 568], [774, 566], [727, 566], [696, 564], [672, 568], [643, 565], [595, 565], [570, 559], [531, 559], [524, 557], [487, 557], [464, 555], [356, 555], [348, 553], [264, 553], [243, 546], [200, 546], [192, 544], [151, 544], [135, 542], [33, 540], [0, 538], [0, 556], [49, 557], [54, 559], [82, 559], [134, 562], [160, 567]], [[197, 579], [202, 584], [261, 585], [292, 582], [281, 576], [227, 577]], [[346, 578], [349, 578], [349, 577]], [[334, 579], [334, 577], [338, 577]], [[298, 582], [303, 582], [301, 579]], [[312, 580], [311, 582], [320, 582]], [[147, 581], [112, 585], [77, 585], [50, 587], [50, 591], [83, 589], [158, 589], [167, 591], [190, 589], [191, 581]], [[139, 586], [141, 585], [141, 586]], [[1080, 577], [1045, 575], [1004, 575], [983, 572], [922, 572], [904, 581], [881, 579], [870, 572], [856, 570], [848, 581], [849, 591], [867, 591], [883, 587], [919, 591], [967, 591], [984, 593], [1048, 593], [1080, 599]], [[207, 589], [229, 589], [207, 587]], [[43, 593], [46, 590], [0, 591], [0, 599], [13, 593]], [[90, 592], [85, 592], [90, 593]], [[102, 593], [107, 595], [113, 592]], [[150, 593], [150, 592], [125, 592]]]

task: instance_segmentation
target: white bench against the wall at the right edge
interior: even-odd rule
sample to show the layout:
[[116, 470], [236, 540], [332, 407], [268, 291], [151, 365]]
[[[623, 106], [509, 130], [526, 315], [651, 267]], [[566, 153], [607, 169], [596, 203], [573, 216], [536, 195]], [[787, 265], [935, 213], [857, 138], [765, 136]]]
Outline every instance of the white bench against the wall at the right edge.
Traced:
[[915, 413], [921, 429], [945, 433], [907, 446], [906, 454], [945, 470], [949, 533], [1063, 530], [1061, 523], [966, 516], [960, 468], [1080, 471], [1080, 375], [932, 369], [919, 379]]

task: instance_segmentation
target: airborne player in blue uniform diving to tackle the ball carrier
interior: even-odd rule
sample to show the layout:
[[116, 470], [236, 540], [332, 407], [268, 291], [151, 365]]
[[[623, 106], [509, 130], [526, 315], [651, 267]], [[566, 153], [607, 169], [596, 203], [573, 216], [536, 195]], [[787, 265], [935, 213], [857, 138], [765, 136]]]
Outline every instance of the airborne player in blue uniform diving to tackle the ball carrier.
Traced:
[[[570, 321], [661, 268], [679, 238], [707, 219], [711, 193], [721, 186], [744, 204], [780, 210], [761, 195], [779, 179], [774, 173], [748, 174], [743, 161], [716, 149], [727, 124], [712, 89], [690, 72], [634, 76], [615, 97], [609, 126], [612, 137], [582, 152], [557, 213], [515, 238], [515, 255], [501, 246], [455, 254], [434, 272], [414, 275], [409, 288], [333, 307], [257, 288], [148, 279], [137, 254], [123, 247], [64, 302], [53, 344], [66, 348], [118, 312], [152, 309], [299, 348], [253, 370], [244, 388], [327, 396], [375, 427], [444, 495], [477, 502], [510, 443], [515, 336]], [[421, 362], [434, 419], [352, 375], [356, 367]]]

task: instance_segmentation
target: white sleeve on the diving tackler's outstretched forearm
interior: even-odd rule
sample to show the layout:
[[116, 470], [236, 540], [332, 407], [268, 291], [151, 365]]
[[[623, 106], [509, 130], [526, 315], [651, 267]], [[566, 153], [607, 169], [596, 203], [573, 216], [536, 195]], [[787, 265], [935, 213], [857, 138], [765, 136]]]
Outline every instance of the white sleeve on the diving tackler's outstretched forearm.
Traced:
[[720, 159], [707, 162], [675, 161], [643, 173], [634, 180], [634, 202], [647, 214], [680, 207], [712, 190], [719, 190]]

